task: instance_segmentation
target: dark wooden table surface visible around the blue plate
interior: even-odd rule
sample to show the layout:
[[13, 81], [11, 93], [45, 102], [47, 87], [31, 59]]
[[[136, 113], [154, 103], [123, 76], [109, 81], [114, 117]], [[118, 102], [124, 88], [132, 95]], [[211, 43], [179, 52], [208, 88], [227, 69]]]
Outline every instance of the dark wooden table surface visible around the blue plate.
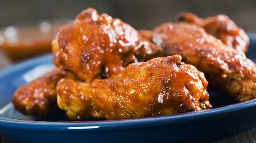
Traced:
[[[12, 61], [0, 50], [0, 69], [12, 64]], [[240, 135], [236, 135], [215, 143], [254, 143], [256, 142], [256, 128], [246, 131]], [[19, 143], [10, 138], [0, 135], [0, 143]]]

